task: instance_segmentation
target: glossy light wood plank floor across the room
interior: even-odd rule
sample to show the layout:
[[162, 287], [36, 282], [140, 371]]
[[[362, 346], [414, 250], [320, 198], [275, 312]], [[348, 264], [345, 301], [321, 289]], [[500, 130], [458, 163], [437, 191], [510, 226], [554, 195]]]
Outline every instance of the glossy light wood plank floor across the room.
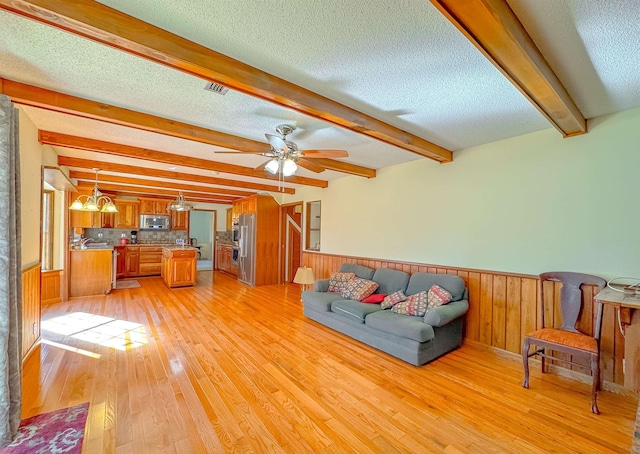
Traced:
[[602, 392], [595, 416], [587, 384], [536, 369], [525, 390], [518, 357], [478, 345], [416, 368], [305, 319], [298, 286], [211, 276], [45, 307], [140, 323], [147, 343], [43, 331], [100, 357], [43, 344], [24, 415], [89, 401], [91, 454], [629, 452], [636, 397]]

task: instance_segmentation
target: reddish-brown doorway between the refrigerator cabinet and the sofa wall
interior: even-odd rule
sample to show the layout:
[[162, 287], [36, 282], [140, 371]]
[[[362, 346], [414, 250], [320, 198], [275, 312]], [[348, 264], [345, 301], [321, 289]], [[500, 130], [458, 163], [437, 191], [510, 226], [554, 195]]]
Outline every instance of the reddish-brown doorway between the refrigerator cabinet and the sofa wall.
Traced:
[[280, 207], [280, 282], [293, 282], [302, 263], [302, 202]]

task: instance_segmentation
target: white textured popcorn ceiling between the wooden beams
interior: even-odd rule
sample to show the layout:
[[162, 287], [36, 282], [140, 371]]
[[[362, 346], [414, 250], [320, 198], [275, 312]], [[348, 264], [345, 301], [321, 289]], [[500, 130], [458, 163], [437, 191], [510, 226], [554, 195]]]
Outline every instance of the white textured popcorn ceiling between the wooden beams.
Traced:
[[[551, 127], [427, 0], [101, 3], [453, 151]], [[640, 106], [639, 1], [508, 3], [586, 118]], [[424, 159], [232, 90], [225, 96], [206, 92], [202, 79], [5, 11], [0, 77], [262, 142], [276, 125], [294, 123], [300, 129], [289, 140], [301, 149], [345, 149], [346, 162], [375, 169]], [[43, 130], [250, 167], [265, 161], [214, 154], [221, 149], [96, 120], [26, 111]], [[455, 165], [455, 153], [449, 165]], [[304, 169], [297, 174], [323, 180], [345, 175]]]

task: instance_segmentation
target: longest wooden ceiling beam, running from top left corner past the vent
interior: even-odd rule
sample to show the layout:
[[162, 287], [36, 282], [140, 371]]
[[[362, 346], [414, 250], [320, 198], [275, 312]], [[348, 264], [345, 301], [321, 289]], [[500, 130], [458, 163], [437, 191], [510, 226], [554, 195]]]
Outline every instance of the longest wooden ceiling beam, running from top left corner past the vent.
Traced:
[[0, 9], [439, 162], [453, 159], [428, 140], [93, 0], [0, 0]]

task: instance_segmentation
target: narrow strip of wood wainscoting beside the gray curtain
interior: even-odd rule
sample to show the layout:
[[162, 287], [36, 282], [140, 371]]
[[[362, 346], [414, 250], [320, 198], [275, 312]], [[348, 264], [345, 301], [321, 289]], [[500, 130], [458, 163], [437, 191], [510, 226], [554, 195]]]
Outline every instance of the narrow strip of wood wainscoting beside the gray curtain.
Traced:
[[39, 263], [22, 270], [22, 358], [29, 354], [38, 339], [40, 339]]

